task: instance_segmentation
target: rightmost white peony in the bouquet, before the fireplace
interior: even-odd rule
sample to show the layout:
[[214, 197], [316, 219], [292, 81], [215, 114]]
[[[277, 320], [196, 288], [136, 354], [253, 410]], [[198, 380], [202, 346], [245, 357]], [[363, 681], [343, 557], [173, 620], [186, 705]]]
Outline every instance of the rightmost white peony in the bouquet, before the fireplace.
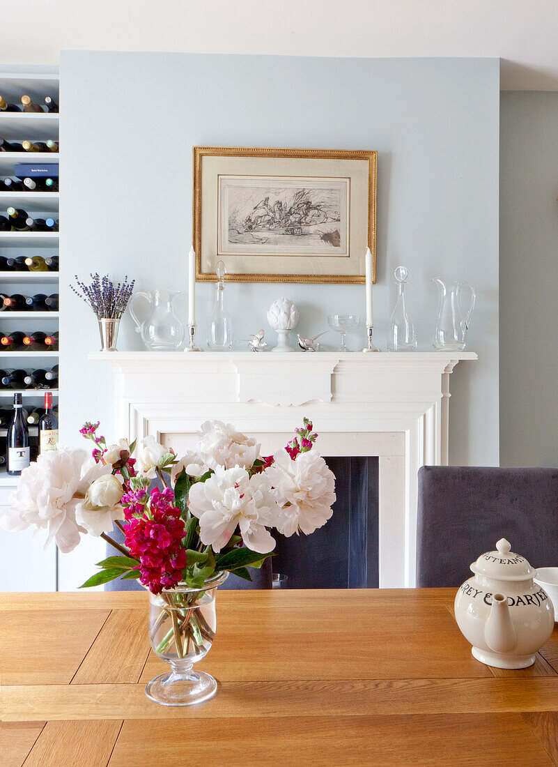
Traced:
[[299, 453], [293, 460], [282, 449], [274, 455], [267, 474], [281, 512], [276, 527], [283, 535], [299, 530], [310, 535], [330, 519], [335, 502], [335, 476], [314, 450]]

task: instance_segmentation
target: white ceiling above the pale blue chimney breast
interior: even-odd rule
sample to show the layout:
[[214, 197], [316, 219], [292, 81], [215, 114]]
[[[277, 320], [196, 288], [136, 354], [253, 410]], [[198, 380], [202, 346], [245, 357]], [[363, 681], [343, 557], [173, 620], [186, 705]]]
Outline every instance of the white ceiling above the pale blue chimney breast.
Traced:
[[2, 64], [64, 48], [486, 56], [505, 90], [558, 90], [556, 0], [19, 0], [0, 29]]

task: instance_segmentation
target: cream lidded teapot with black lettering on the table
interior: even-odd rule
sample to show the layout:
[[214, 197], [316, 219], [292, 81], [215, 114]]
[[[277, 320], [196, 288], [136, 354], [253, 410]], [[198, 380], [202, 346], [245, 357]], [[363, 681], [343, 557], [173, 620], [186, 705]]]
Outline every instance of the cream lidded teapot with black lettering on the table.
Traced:
[[501, 538], [471, 565], [473, 578], [455, 597], [455, 620], [471, 642], [474, 657], [487, 666], [523, 669], [552, 634], [554, 608], [534, 583], [537, 571], [510, 551]]

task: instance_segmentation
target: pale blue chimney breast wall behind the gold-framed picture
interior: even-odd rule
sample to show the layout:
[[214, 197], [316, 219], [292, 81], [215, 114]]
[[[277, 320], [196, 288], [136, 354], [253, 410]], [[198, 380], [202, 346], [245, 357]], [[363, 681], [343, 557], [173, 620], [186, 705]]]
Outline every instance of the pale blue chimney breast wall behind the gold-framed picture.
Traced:
[[[110, 373], [86, 360], [96, 322], [67, 283], [99, 270], [136, 277], [140, 289], [186, 289], [192, 145], [364, 148], [379, 151], [377, 341], [385, 348], [399, 263], [410, 270], [422, 349], [432, 348], [435, 321], [429, 280], [474, 283], [469, 348], [480, 359], [452, 376], [451, 461], [497, 464], [498, 91], [495, 60], [62, 51], [64, 440], [75, 443], [80, 423], [96, 418], [116, 436]], [[213, 292], [198, 285], [202, 336]], [[304, 334], [325, 329], [330, 311], [365, 313], [361, 286], [232, 284], [235, 337], [265, 327], [280, 295], [299, 305]], [[350, 343], [362, 347], [363, 332]], [[119, 347], [140, 348], [127, 317]], [[87, 564], [84, 552], [74, 562]], [[75, 581], [72, 572], [61, 587]]]

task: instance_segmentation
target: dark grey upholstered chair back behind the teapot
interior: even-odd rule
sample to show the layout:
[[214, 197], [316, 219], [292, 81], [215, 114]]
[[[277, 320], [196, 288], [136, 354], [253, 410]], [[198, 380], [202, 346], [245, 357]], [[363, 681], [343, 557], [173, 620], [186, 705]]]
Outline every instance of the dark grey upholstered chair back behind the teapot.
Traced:
[[419, 470], [418, 587], [459, 586], [500, 538], [534, 568], [558, 566], [558, 469]]

